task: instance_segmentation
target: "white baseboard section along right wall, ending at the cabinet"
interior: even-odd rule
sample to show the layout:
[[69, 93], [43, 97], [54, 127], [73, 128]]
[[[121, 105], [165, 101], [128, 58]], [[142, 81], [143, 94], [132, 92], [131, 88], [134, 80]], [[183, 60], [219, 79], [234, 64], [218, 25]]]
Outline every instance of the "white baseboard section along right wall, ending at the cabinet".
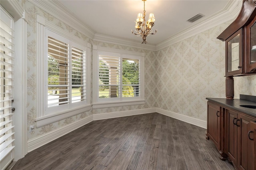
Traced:
[[206, 121], [202, 121], [200, 119], [196, 119], [196, 118], [193, 118], [193, 117], [189, 117], [189, 116], [186, 116], [186, 115], [181, 115], [179, 113], [174, 113], [174, 112], [171, 112], [171, 111], [166, 111], [164, 109], [158, 109], [156, 108], [156, 112], [157, 113], [160, 113], [162, 115], [166, 115], [168, 117], [172, 117], [174, 119], [178, 119], [180, 121], [184, 121], [186, 123], [190, 123], [192, 125], [196, 125], [198, 127], [202, 127], [202, 128], [207, 128], [207, 122]]

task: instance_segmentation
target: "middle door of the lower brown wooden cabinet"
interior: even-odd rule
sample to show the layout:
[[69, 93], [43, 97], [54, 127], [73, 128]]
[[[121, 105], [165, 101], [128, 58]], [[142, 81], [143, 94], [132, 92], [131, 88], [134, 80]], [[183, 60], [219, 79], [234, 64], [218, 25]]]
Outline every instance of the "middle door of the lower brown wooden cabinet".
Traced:
[[237, 113], [226, 111], [226, 152], [230, 160], [237, 165]]

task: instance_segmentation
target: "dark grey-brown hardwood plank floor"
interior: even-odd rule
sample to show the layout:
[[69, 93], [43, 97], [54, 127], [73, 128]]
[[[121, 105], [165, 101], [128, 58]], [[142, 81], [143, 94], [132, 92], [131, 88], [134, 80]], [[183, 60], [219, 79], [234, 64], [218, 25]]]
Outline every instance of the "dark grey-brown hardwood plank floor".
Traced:
[[93, 121], [28, 153], [12, 170], [234, 170], [205, 134], [158, 113]]

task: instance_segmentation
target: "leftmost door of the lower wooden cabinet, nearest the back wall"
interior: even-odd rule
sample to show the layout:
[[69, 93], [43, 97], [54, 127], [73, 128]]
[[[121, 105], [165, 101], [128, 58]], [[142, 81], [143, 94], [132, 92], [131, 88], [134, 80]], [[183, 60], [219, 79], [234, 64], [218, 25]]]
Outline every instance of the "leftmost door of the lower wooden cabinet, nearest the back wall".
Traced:
[[207, 103], [207, 136], [214, 142], [220, 150], [220, 106]]

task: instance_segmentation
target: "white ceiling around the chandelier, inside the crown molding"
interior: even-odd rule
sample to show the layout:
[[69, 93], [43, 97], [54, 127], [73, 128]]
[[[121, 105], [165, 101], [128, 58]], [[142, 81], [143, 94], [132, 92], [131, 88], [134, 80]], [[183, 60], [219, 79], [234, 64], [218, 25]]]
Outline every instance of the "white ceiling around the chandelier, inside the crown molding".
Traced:
[[[149, 13], [156, 18], [155, 35], [147, 37], [148, 44], [157, 45], [182, 30], [206, 20], [228, 4], [229, 0], [147, 0], [146, 20]], [[96, 34], [142, 42], [131, 33], [138, 13], [143, 13], [142, 0], [58, 0]], [[186, 20], [196, 14], [205, 15], [190, 23]]]

